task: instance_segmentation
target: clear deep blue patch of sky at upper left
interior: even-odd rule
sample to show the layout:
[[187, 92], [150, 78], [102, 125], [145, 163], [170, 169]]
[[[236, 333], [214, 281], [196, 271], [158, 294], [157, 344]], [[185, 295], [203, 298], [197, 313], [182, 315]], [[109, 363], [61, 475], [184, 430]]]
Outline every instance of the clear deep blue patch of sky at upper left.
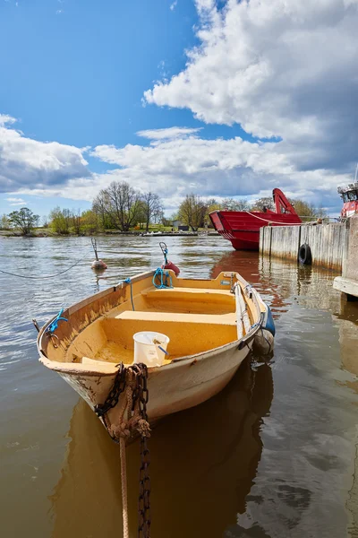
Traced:
[[181, 121], [176, 110], [168, 117], [142, 108], [141, 98], [161, 76], [161, 62], [166, 71], [183, 67], [183, 49], [194, 42], [192, 2], [175, 11], [166, 0], [0, 5], [1, 50], [8, 51], [0, 56], [0, 102], [28, 135], [79, 147], [124, 145], [140, 129]]

